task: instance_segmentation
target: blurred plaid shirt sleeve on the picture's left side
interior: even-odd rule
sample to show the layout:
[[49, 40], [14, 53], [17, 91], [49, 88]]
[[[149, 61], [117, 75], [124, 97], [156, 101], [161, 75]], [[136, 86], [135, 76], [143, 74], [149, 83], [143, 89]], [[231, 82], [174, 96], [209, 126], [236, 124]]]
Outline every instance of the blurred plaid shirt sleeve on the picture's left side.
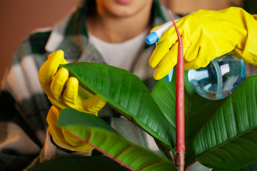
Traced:
[[0, 160], [7, 169], [26, 170], [60, 156], [91, 154], [67, 153], [52, 143], [46, 122], [51, 103], [38, 80], [43, 62], [43, 54], [33, 53], [30, 39], [26, 38], [2, 80]]

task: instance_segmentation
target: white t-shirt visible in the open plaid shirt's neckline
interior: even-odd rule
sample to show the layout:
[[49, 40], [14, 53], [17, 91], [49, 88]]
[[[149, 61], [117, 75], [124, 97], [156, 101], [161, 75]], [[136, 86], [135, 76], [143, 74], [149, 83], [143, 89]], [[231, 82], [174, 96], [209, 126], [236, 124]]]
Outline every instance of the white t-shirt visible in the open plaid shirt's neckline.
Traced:
[[136, 58], [146, 46], [145, 37], [149, 34], [149, 29], [122, 43], [108, 43], [88, 34], [89, 42], [103, 56], [107, 65], [131, 71]]

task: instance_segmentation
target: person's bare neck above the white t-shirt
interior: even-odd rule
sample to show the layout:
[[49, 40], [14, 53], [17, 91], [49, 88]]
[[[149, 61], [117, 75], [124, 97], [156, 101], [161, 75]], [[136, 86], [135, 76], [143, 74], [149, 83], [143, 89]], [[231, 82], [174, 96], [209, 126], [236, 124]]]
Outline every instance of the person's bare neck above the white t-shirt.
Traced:
[[105, 42], [121, 43], [142, 33], [150, 26], [152, 6], [145, 7], [133, 16], [118, 17], [108, 12], [87, 18], [86, 25], [90, 34]]

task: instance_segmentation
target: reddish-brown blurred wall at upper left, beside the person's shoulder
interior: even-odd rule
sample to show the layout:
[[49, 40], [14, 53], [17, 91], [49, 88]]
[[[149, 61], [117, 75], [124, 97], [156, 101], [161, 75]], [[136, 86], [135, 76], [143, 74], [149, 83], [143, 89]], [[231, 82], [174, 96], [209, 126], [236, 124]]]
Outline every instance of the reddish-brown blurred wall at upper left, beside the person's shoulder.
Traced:
[[0, 0], [0, 80], [19, 42], [36, 28], [52, 26], [79, 0]]

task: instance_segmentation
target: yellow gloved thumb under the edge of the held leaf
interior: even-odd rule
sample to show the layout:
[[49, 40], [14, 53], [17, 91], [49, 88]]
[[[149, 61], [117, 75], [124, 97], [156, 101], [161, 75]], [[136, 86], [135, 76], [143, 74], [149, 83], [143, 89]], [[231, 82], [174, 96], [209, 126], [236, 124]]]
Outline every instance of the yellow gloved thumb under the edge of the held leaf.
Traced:
[[98, 94], [91, 96], [88, 99], [82, 100], [82, 106], [86, 112], [96, 113], [106, 104], [106, 100]]

